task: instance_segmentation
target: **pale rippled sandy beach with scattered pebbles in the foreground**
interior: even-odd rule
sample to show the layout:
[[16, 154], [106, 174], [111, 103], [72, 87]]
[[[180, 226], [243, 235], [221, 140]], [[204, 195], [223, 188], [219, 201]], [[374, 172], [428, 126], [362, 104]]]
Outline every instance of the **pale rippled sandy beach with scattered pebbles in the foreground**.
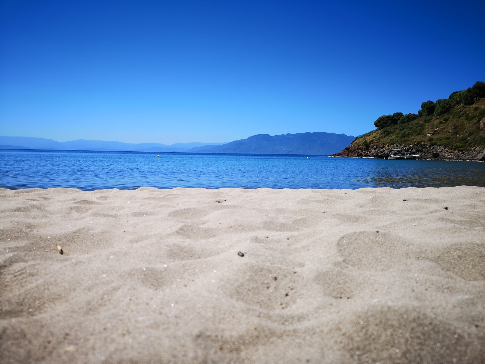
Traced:
[[485, 362], [485, 188], [0, 189], [0, 207], [1, 363]]

